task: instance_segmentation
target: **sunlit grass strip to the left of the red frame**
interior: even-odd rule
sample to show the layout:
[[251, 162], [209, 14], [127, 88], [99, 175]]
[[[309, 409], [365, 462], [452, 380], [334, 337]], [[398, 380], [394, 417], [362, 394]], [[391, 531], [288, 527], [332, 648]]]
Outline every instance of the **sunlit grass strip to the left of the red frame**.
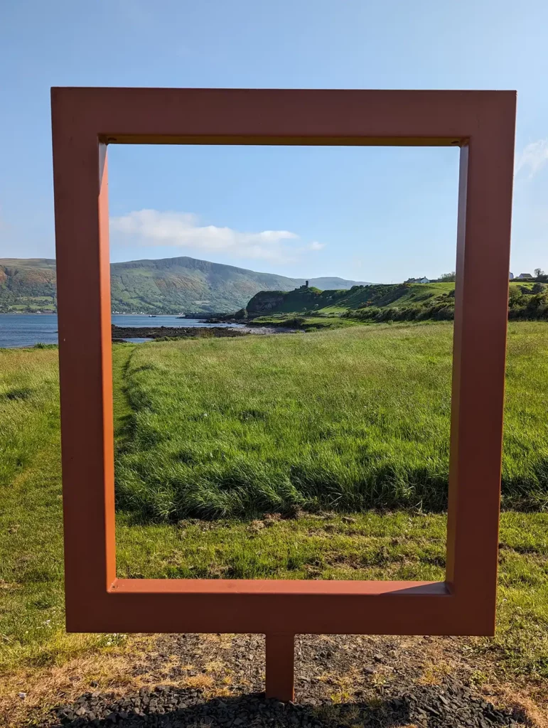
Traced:
[[57, 347], [0, 349], [0, 671], [106, 645], [64, 627]]

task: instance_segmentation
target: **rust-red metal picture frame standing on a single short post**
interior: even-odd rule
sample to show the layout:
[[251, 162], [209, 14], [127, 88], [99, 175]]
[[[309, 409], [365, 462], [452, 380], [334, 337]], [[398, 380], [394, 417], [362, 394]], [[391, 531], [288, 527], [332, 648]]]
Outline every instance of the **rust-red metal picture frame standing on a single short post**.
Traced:
[[[512, 91], [52, 89], [69, 631], [266, 633], [282, 698], [296, 633], [493, 634], [515, 106]], [[111, 143], [460, 147], [444, 582], [116, 578]]]

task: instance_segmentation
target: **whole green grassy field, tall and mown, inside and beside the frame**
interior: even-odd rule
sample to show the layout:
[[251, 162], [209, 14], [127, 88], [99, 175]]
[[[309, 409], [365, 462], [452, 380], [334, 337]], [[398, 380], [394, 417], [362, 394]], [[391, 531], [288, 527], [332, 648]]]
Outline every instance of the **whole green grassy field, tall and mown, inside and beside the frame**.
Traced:
[[[115, 346], [119, 574], [441, 579], [445, 515], [417, 506], [441, 505], [446, 487], [450, 333], [356, 326]], [[507, 506], [546, 505], [547, 333], [510, 326]], [[0, 350], [4, 681], [126, 639], [64, 632], [58, 413], [57, 350]], [[370, 494], [352, 484], [366, 467]], [[412, 507], [345, 513], [376, 499]], [[547, 533], [546, 512], [502, 515], [497, 636], [466, 649], [491, 655], [505, 679], [548, 678]]]

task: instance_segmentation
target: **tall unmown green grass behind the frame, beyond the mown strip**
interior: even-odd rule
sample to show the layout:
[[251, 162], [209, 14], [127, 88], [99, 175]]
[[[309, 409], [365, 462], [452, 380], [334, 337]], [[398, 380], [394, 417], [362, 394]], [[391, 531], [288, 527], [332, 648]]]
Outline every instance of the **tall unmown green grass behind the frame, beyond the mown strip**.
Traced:
[[[547, 333], [510, 326], [504, 507], [548, 505]], [[135, 347], [119, 507], [164, 521], [443, 510], [451, 347], [442, 323]]]

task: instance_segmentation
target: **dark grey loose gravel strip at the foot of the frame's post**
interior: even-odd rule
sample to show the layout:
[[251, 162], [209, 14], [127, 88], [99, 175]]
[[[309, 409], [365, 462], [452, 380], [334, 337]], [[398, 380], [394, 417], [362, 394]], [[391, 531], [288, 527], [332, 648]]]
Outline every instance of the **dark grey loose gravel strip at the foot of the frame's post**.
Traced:
[[[261, 694], [207, 700], [202, 689], [157, 686], [112, 700], [108, 694], [87, 693], [72, 705], [55, 710], [53, 724], [84, 726], [417, 726], [479, 727], [517, 726], [512, 716], [469, 690], [445, 684], [421, 687], [414, 692], [386, 697], [374, 703], [279, 703]], [[49, 722], [52, 725], [52, 722]]]

